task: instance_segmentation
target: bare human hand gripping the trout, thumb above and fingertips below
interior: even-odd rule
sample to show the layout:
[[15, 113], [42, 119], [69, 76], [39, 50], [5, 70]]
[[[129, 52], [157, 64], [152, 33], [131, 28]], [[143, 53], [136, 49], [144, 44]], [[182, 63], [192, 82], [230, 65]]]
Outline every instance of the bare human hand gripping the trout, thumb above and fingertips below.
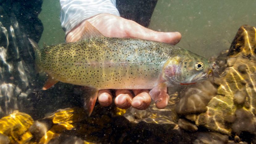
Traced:
[[[87, 19], [99, 32], [107, 37], [138, 38], [153, 40], [169, 44], [177, 44], [181, 39], [179, 32], [156, 32], [145, 28], [138, 23], [111, 14], [99, 14]], [[66, 36], [66, 42], [78, 41], [84, 31], [85, 21], [71, 30]], [[126, 109], [130, 106], [137, 109], [146, 109], [151, 102], [149, 90], [116, 90], [115, 104], [118, 108]], [[135, 95], [135, 96], [134, 96]], [[112, 103], [110, 90], [100, 90], [98, 100], [101, 106], [109, 106]], [[157, 108], [165, 108], [169, 101], [169, 95], [156, 104]]]

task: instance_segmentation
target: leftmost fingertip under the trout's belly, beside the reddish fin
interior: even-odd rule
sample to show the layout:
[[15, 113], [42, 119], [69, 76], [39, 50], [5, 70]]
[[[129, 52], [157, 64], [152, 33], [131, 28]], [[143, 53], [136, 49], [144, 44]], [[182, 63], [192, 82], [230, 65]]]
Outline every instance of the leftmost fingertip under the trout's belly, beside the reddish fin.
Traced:
[[110, 90], [100, 90], [98, 100], [101, 106], [107, 107], [112, 103], [112, 95]]

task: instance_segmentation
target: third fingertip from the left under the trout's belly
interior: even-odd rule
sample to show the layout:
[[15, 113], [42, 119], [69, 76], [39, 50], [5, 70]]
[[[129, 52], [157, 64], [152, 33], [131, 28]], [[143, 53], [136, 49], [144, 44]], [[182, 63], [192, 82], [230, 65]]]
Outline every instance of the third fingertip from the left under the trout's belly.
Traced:
[[133, 90], [133, 92], [135, 97], [132, 99], [131, 105], [139, 110], [146, 109], [151, 102], [149, 90]]

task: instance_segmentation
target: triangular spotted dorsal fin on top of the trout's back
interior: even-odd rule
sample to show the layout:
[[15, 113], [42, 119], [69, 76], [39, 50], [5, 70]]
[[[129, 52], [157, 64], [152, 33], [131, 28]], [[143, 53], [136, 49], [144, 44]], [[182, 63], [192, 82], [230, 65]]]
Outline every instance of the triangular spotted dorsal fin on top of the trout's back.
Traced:
[[88, 21], [85, 21], [84, 31], [80, 40], [88, 40], [92, 37], [102, 37], [103, 35]]

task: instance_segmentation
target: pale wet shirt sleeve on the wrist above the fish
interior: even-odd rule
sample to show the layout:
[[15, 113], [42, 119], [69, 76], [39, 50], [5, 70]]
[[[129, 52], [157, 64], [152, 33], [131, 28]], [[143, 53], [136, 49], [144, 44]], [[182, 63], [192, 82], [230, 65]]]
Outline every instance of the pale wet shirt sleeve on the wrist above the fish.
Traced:
[[116, 0], [60, 0], [61, 26], [66, 34], [84, 20], [101, 13], [120, 16]]

